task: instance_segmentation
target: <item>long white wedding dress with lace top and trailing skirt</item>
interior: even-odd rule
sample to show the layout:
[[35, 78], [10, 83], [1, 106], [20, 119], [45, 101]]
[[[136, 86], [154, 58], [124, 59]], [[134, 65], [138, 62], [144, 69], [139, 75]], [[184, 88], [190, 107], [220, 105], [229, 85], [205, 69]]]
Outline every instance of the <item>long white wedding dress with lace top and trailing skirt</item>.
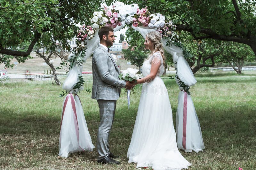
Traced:
[[137, 163], [137, 168], [152, 167], [154, 170], [188, 168], [191, 164], [177, 148], [168, 92], [159, 77], [164, 73], [163, 59], [159, 52], [144, 61], [142, 74], [145, 77], [150, 73], [153, 57], [160, 58], [161, 66], [153, 81], [143, 83], [127, 153], [128, 162]]

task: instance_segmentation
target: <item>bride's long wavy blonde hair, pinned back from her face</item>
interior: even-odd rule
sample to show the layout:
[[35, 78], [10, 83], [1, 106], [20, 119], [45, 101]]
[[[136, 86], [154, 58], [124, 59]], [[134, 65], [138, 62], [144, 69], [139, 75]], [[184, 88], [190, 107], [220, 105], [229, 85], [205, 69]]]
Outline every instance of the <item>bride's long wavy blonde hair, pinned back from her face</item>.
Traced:
[[165, 66], [165, 57], [164, 57], [164, 50], [163, 50], [163, 45], [161, 43], [162, 36], [159, 32], [157, 31], [152, 31], [146, 35], [148, 39], [151, 41], [153, 44], [154, 51], [152, 51], [152, 54], [156, 51], [160, 51], [162, 57], [163, 57], [163, 62]]

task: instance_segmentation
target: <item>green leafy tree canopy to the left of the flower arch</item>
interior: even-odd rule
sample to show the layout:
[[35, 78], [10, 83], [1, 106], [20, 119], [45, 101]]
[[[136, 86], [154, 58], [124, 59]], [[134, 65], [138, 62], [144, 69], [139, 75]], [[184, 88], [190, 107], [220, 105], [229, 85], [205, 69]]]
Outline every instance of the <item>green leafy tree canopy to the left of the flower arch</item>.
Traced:
[[33, 47], [33, 41], [41, 38], [51, 50], [57, 40], [64, 42], [63, 48], [69, 49], [65, 42], [75, 36], [76, 24], [89, 23], [100, 3], [95, 0], [90, 3], [79, 0], [0, 0], [0, 47], [8, 49], [24, 41]]

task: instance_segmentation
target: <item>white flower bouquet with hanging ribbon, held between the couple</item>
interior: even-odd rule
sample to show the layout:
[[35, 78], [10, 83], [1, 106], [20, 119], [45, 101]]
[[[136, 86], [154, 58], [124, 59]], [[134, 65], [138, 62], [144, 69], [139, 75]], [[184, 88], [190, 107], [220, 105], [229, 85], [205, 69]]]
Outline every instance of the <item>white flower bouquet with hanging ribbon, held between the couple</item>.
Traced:
[[[141, 78], [141, 74], [140, 74], [140, 71], [137, 70], [137, 69], [134, 69], [134, 68], [127, 68], [126, 70], [124, 70], [118, 77], [121, 79], [121, 80], [124, 80], [124, 81], [130, 81], [130, 82], [133, 82], [133, 81], [137, 81]], [[131, 89], [132, 92], [134, 93], [134, 90]], [[130, 93], [131, 93], [131, 90], [127, 90], [127, 100], [128, 100], [128, 108], [130, 107]]]

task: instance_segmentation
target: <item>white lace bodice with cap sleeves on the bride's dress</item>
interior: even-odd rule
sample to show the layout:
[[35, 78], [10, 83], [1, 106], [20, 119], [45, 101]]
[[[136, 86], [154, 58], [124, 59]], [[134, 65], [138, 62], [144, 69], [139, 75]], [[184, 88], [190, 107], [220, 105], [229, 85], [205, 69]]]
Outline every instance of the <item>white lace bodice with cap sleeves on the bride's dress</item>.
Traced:
[[[155, 52], [152, 56], [150, 56], [147, 60], [144, 61], [143, 65], [142, 65], [142, 75], [145, 77], [150, 73], [150, 69], [151, 69], [151, 63], [154, 57], [157, 57], [160, 59], [161, 61], [161, 65], [157, 71], [156, 77], [161, 76], [164, 73], [164, 62], [163, 62], [163, 58], [160, 54], [160, 52]], [[153, 60], [154, 62], [154, 60]]]

